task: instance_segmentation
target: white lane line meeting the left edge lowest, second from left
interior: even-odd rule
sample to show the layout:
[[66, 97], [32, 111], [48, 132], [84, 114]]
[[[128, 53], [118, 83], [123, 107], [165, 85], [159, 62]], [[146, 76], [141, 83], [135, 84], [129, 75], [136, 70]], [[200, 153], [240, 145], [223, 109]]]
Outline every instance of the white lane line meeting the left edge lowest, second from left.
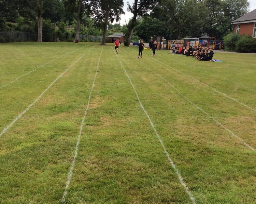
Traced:
[[[94, 47], [95, 47], [95, 46], [94, 46]], [[93, 48], [94, 48], [94, 47], [93, 47]], [[88, 52], [90, 52], [93, 48], [91, 48]], [[85, 54], [87, 54], [88, 52], [86, 52]], [[83, 54], [83, 56], [84, 56], [85, 54]], [[75, 63], [77, 63], [83, 56], [81, 56]], [[74, 64], [75, 64], [75, 63], [74, 63]], [[54, 82], [52, 82], [52, 83], [42, 92], [42, 94], [40, 94], [40, 96], [39, 96], [37, 99], [35, 99], [35, 101], [34, 101], [33, 103], [31, 103], [31, 104], [25, 109], [25, 111], [23, 111], [21, 114], [19, 114], [6, 128], [4, 128], [3, 131], [0, 133], [0, 136], [3, 135], [9, 128], [11, 128], [11, 126], [12, 126], [20, 117], [22, 117], [22, 115], [25, 114], [25, 113], [29, 110], [29, 108], [30, 108], [31, 106], [33, 106], [33, 105], [44, 95], [45, 91], [47, 91], [47, 90], [48, 90], [63, 74], [65, 74], [74, 64], [72, 64], [66, 71], [64, 71], [61, 75], [59, 75], [59, 77], [58, 77], [56, 80], [54, 80]]]

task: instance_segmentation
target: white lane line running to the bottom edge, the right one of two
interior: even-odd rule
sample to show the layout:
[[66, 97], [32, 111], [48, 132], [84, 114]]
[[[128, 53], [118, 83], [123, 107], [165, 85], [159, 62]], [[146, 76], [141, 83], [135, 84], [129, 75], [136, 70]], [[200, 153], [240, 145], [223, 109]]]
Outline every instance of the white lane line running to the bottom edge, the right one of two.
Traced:
[[[112, 48], [112, 50], [113, 50], [113, 48]], [[114, 51], [114, 50], [113, 50], [113, 51]], [[114, 52], [115, 52], [115, 51], [114, 51]], [[115, 54], [116, 54], [116, 53], [115, 53]], [[150, 116], [147, 114], [147, 112], [146, 112], [144, 106], [142, 105], [142, 103], [141, 103], [141, 101], [140, 101], [140, 98], [139, 98], [139, 96], [138, 96], [138, 94], [137, 94], [137, 91], [136, 91], [136, 89], [134, 88], [134, 86], [133, 86], [133, 84], [132, 84], [132, 82], [131, 82], [131, 79], [130, 79], [129, 75], [127, 74], [126, 69], [124, 68], [124, 66], [123, 66], [121, 60], [119, 59], [119, 57], [117, 56], [117, 54], [116, 54], [116, 57], [118, 58], [118, 60], [120, 61], [120, 64], [122, 65], [123, 69], [125, 70], [125, 73], [126, 73], [128, 79], [129, 79], [129, 81], [130, 81], [130, 84], [132, 85], [132, 88], [133, 88], [133, 90], [134, 90], [134, 92], [135, 92], [135, 94], [136, 94], [136, 96], [137, 96], [137, 99], [138, 99], [138, 101], [139, 101], [139, 103], [140, 103], [140, 107], [142, 108], [142, 110], [143, 110], [144, 113], [146, 114], [148, 120], [150, 121], [150, 124], [151, 124], [153, 130], [155, 131], [156, 136], [157, 136], [159, 142], [161, 143], [161, 146], [162, 146], [163, 150], [165, 151], [165, 154], [166, 154], [166, 156], [167, 156], [169, 162], [171, 163], [172, 167], [174, 168], [176, 174], [179, 176], [179, 180], [180, 180], [181, 184], [183, 185], [183, 187], [185, 188], [187, 194], [189, 195], [190, 200], [193, 202], [193, 204], [196, 204], [195, 198], [193, 197], [192, 193], [190, 192], [190, 190], [189, 190], [188, 187], [186, 186], [186, 184], [185, 184], [185, 182], [184, 182], [184, 180], [183, 180], [183, 178], [182, 178], [182, 176], [181, 176], [181, 173], [179, 172], [179, 170], [177, 169], [177, 167], [176, 167], [175, 164], [173, 163], [173, 161], [172, 161], [172, 159], [171, 159], [169, 153], [167, 152], [167, 150], [166, 150], [166, 148], [165, 148], [165, 145], [164, 145], [163, 142], [162, 142], [162, 139], [161, 139], [160, 136], [158, 135], [158, 132], [157, 132], [157, 130], [156, 130], [156, 128], [155, 128], [155, 126], [154, 126], [154, 124], [153, 124], [153, 122], [152, 122]]]

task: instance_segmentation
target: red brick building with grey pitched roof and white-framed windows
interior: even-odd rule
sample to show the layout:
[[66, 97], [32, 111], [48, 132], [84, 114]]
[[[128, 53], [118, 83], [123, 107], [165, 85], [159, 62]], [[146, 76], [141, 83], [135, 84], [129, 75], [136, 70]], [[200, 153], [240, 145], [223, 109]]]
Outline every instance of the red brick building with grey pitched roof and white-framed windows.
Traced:
[[234, 25], [234, 33], [256, 38], [256, 9], [232, 21], [232, 24]]

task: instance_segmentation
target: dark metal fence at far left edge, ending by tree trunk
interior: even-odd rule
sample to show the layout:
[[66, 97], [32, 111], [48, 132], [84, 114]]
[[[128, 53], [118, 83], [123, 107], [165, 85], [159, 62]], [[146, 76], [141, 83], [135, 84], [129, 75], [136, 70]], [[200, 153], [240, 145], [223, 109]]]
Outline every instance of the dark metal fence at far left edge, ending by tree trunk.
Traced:
[[27, 42], [36, 41], [37, 35], [30, 32], [0, 32], [0, 42], [10, 43], [10, 42]]

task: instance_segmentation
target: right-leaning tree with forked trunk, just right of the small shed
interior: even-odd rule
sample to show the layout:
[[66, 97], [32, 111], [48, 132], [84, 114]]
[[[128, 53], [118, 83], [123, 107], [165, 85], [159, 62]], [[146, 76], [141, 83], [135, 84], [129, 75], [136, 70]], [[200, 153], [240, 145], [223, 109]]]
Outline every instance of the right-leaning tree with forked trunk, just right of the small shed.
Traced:
[[127, 37], [126, 46], [130, 46], [131, 36], [136, 26], [137, 17], [147, 14], [148, 10], [157, 2], [157, 0], [134, 0], [132, 6], [128, 3], [128, 11], [133, 14], [131, 25], [129, 27], [129, 34]]

